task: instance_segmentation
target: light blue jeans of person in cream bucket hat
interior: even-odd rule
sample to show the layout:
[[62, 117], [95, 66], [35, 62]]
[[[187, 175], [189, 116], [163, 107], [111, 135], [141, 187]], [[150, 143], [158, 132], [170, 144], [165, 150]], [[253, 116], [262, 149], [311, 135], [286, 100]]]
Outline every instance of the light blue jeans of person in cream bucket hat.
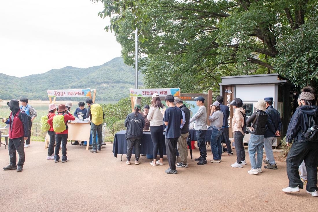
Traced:
[[[250, 141], [248, 142], [248, 154], [250, 155], [252, 169], [262, 168], [263, 145], [264, 135], [251, 134]], [[257, 158], [255, 158], [255, 153], [257, 153]]]

